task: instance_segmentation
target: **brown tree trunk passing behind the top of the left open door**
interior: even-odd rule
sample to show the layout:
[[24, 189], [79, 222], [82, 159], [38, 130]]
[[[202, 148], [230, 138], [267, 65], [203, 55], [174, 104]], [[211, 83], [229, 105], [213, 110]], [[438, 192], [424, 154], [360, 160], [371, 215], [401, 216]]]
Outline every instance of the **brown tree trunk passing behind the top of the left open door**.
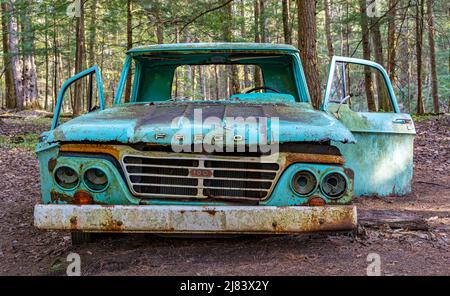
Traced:
[[[75, 52], [75, 73], [83, 70], [84, 65], [84, 7], [80, 7], [80, 17], [77, 18], [76, 24], [76, 52]], [[83, 83], [82, 79], [75, 82], [75, 97], [73, 102], [73, 115], [81, 114], [81, 104], [83, 100]]]

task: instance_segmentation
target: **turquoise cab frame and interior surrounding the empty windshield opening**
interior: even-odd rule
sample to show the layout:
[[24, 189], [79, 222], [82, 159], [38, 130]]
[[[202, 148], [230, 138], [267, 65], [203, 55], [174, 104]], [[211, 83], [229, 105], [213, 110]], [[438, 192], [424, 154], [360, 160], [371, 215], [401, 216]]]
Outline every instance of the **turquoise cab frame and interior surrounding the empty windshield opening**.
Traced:
[[[148, 60], [152, 54], [158, 53], [164, 53], [164, 59]], [[138, 79], [135, 77], [135, 81], [140, 81], [138, 93], [133, 94], [132, 102], [152, 102], [171, 98], [171, 82], [176, 66], [214, 64], [212, 58], [217, 59], [219, 56], [228, 59], [230, 55], [236, 53], [277, 55], [270, 59], [244, 59], [235, 63], [259, 66], [266, 86], [291, 94], [297, 101], [310, 102], [300, 56], [293, 46], [265, 43], [180, 43], [144, 46], [128, 51], [114, 104], [121, 101], [132, 58], [136, 62], [136, 73], [139, 76]], [[234, 62], [227, 60], [223, 63]]]

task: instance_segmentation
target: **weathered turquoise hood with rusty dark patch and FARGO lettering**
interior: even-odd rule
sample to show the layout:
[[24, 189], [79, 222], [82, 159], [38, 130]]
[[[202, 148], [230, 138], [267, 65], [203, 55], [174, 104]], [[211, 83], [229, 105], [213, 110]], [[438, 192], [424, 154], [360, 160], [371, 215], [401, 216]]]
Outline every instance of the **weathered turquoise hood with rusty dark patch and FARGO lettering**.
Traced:
[[[201, 113], [200, 121], [198, 116]], [[248, 127], [230, 118], [246, 119]], [[249, 120], [256, 119], [258, 124]], [[210, 121], [205, 121], [207, 118]], [[263, 118], [267, 118], [264, 121]], [[197, 119], [197, 120], [196, 120]], [[200, 122], [200, 124], [199, 124]], [[203, 122], [203, 125], [201, 124]], [[207, 124], [209, 122], [209, 124]], [[216, 124], [215, 127], [213, 124]], [[264, 122], [266, 122], [264, 124]], [[252, 125], [253, 124], [253, 125]], [[241, 135], [245, 144], [255, 144], [249, 130], [257, 129], [267, 143], [355, 143], [352, 133], [334, 117], [314, 110], [308, 103], [251, 104], [242, 102], [165, 102], [123, 104], [91, 112], [47, 133], [47, 142], [120, 142], [170, 145], [183, 135], [183, 144], [194, 143], [222, 125], [224, 138]], [[277, 127], [278, 126], [278, 127]], [[268, 131], [268, 132], [264, 132]], [[242, 134], [244, 133], [244, 134]]]

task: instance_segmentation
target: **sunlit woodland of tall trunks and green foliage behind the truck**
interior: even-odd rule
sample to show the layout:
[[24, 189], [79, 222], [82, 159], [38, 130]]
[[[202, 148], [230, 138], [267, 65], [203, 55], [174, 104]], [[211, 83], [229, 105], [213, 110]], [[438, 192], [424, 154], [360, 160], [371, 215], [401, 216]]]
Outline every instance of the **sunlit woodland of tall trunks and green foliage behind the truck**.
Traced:
[[[446, 0], [2, 0], [1, 16], [2, 108], [53, 111], [61, 84], [95, 64], [111, 104], [127, 49], [227, 41], [297, 46], [315, 106], [330, 57], [342, 55], [382, 64], [402, 111], [450, 112]], [[214, 73], [187, 74], [177, 75], [178, 88], [219, 92], [219, 81], [203, 82]], [[83, 92], [66, 101], [78, 114]]]

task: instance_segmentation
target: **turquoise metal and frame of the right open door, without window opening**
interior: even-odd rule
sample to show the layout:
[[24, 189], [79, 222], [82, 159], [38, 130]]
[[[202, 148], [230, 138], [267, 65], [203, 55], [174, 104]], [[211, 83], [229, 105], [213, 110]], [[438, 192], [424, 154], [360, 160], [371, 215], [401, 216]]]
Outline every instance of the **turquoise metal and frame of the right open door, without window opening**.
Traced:
[[[367, 65], [378, 70], [386, 83], [394, 112], [354, 112], [348, 104], [339, 106], [329, 102], [337, 62]], [[354, 171], [355, 196], [406, 195], [411, 192], [416, 131], [411, 116], [400, 113], [389, 77], [381, 65], [334, 57], [322, 108], [339, 119], [356, 138], [353, 145], [332, 142], [346, 159], [345, 165]]]

